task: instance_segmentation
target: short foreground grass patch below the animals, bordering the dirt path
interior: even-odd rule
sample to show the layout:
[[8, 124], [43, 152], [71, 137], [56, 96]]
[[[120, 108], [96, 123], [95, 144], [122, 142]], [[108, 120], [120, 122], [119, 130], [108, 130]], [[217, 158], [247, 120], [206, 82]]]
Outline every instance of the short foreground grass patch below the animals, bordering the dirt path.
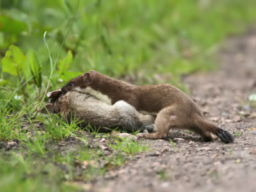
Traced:
[[[93, 138], [107, 140], [109, 154], [106, 155], [97, 141], [92, 143], [92, 139], [89, 141], [81, 132], [76, 118], [67, 123], [58, 115], [38, 113], [30, 119], [29, 125], [27, 118], [12, 116], [9, 111], [3, 111], [3, 106], [0, 109], [0, 114], [8, 115], [8, 118], [1, 118], [6, 122], [0, 129], [0, 188], [3, 191], [83, 191], [74, 182], [88, 183], [127, 163], [135, 154], [148, 150], [148, 146], [140, 142], [92, 129]], [[38, 123], [44, 125], [38, 126]], [[29, 126], [23, 127], [23, 124]], [[70, 140], [74, 141], [70, 143]], [[3, 147], [12, 145], [13, 141], [19, 144], [8, 150]], [[67, 144], [63, 146], [60, 142]]]

